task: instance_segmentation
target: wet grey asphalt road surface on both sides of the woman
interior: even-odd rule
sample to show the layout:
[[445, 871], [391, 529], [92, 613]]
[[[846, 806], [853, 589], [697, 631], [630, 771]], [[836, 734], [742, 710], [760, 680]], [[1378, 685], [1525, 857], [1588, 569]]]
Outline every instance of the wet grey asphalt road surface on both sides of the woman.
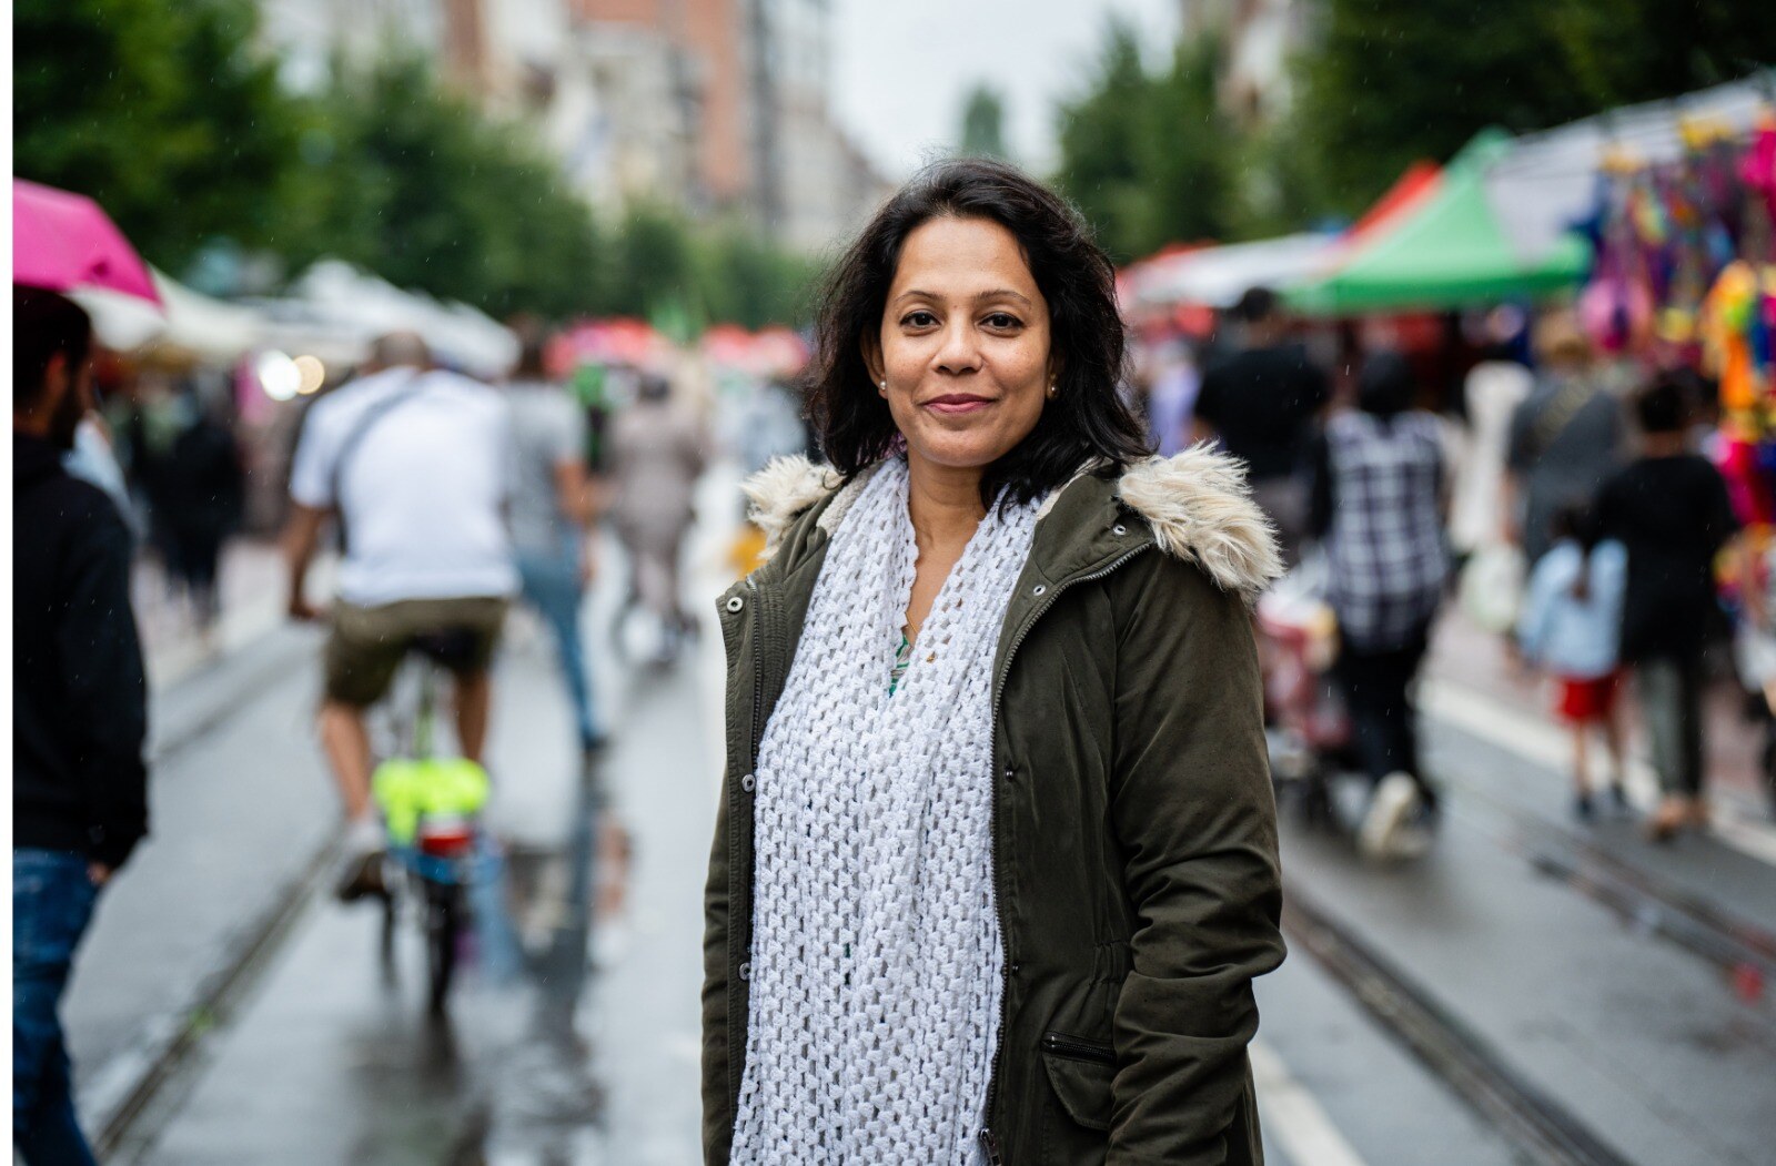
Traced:
[[[714, 595], [719, 541], [694, 559]], [[234, 674], [204, 680], [227, 696], [226, 715], [156, 774], [165, 854], [144, 854], [135, 893], [124, 884], [105, 903], [69, 1001], [89, 1113], [327, 836], [330, 793], [305, 722], [309, 650], [279, 634], [229, 662]], [[391, 978], [375, 912], [337, 907], [311, 884], [108, 1161], [700, 1161], [700, 894], [721, 763], [719, 644], [698, 644], [673, 671], [600, 664], [618, 738], [583, 772], [549, 644], [519, 634], [504, 655], [490, 820], [508, 847], [508, 909], [494, 932], [511, 942], [478, 941], [451, 1022], [423, 1015], [417, 930], [401, 928]], [[1630, 822], [1579, 832], [1545, 745], [1508, 719], [1433, 719], [1433, 770], [1451, 788], [1437, 850], [1378, 870], [1286, 815], [1291, 886], [1385, 951], [1618, 1161], [1772, 1161], [1776, 1004], [1746, 967], [1709, 958], [1677, 925], [1689, 905], [1751, 939], [1776, 934], [1776, 866], [1710, 838], [1650, 847]], [[174, 813], [204, 829], [181, 834]], [[1662, 898], [1607, 902], [1593, 875], [1618, 868]], [[176, 875], [202, 893], [170, 894]], [[1272, 1161], [1536, 1161], [1300, 944], [1259, 1001], [1254, 1063]]]

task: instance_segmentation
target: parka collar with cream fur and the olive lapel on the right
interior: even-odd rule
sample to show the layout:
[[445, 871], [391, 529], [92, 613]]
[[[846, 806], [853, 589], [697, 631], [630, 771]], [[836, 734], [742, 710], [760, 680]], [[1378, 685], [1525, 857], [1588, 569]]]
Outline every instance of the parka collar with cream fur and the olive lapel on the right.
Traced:
[[[780, 570], [826, 543], [876, 472], [844, 481], [808, 458], [778, 458], [746, 483], [751, 518], [765, 532], [765, 554], [783, 550]], [[812, 522], [797, 520], [810, 515]], [[1131, 522], [1133, 518], [1133, 522]], [[1270, 520], [1250, 497], [1245, 467], [1208, 445], [1172, 458], [1147, 458], [1115, 470], [1082, 470], [1041, 508], [1025, 580], [1034, 586], [1101, 570], [1146, 545], [1193, 563], [1224, 591], [1247, 603], [1282, 575]]]

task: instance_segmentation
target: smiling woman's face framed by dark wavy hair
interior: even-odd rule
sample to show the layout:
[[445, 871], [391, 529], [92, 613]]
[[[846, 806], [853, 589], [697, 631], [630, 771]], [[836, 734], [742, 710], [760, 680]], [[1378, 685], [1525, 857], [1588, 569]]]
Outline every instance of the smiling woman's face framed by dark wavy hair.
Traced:
[[996, 222], [932, 218], [900, 247], [865, 362], [915, 469], [980, 470], [1043, 415], [1048, 346], [1048, 302], [1018, 238]]

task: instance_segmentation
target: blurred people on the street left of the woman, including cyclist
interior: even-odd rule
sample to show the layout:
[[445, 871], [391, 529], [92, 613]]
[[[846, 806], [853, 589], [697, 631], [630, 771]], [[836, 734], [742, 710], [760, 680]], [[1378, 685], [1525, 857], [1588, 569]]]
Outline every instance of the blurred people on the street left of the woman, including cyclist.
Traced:
[[[210, 634], [243, 458], [227, 410], [195, 385], [101, 410], [103, 357], [73, 300], [14, 286], [12, 312], [14, 1141], [30, 1162], [82, 1162], [59, 1003], [101, 889], [149, 831], [131, 571], [158, 568]], [[707, 458], [700, 414], [666, 376], [634, 371], [606, 396], [618, 408], [588, 415], [545, 367], [554, 337], [522, 319], [513, 332], [519, 358], [497, 385], [440, 367], [416, 334], [385, 335], [300, 426], [288, 612], [329, 628], [318, 731], [345, 809], [341, 900], [389, 893], [366, 710], [408, 651], [449, 671], [456, 747], [480, 765], [490, 666], [508, 607], [526, 603], [552, 634], [590, 760], [607, 742], [581, 626], [602, 522], [629, 570], [620, 642], [639, 619], [648, 662], [671, 666], [696, 632], [678, 563]], [[323, 607], [307, 575], [329, 547], [339, 570]]]

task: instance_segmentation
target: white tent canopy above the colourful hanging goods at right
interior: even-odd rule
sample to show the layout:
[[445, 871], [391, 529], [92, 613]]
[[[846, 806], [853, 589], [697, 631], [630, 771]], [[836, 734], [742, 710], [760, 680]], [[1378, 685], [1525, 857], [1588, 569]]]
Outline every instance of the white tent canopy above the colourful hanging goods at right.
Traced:
[[1669, 101], [1632, 105], [1517, 138], [1487, 174], [1487, 199], [1524, 263], [1591, 213], [1597, 172], [1611, 156], [1659, 165], [1684, 156], [1684, 126], [1744, 135], [1776, 96], [1776, 73], [1703, 89]]

